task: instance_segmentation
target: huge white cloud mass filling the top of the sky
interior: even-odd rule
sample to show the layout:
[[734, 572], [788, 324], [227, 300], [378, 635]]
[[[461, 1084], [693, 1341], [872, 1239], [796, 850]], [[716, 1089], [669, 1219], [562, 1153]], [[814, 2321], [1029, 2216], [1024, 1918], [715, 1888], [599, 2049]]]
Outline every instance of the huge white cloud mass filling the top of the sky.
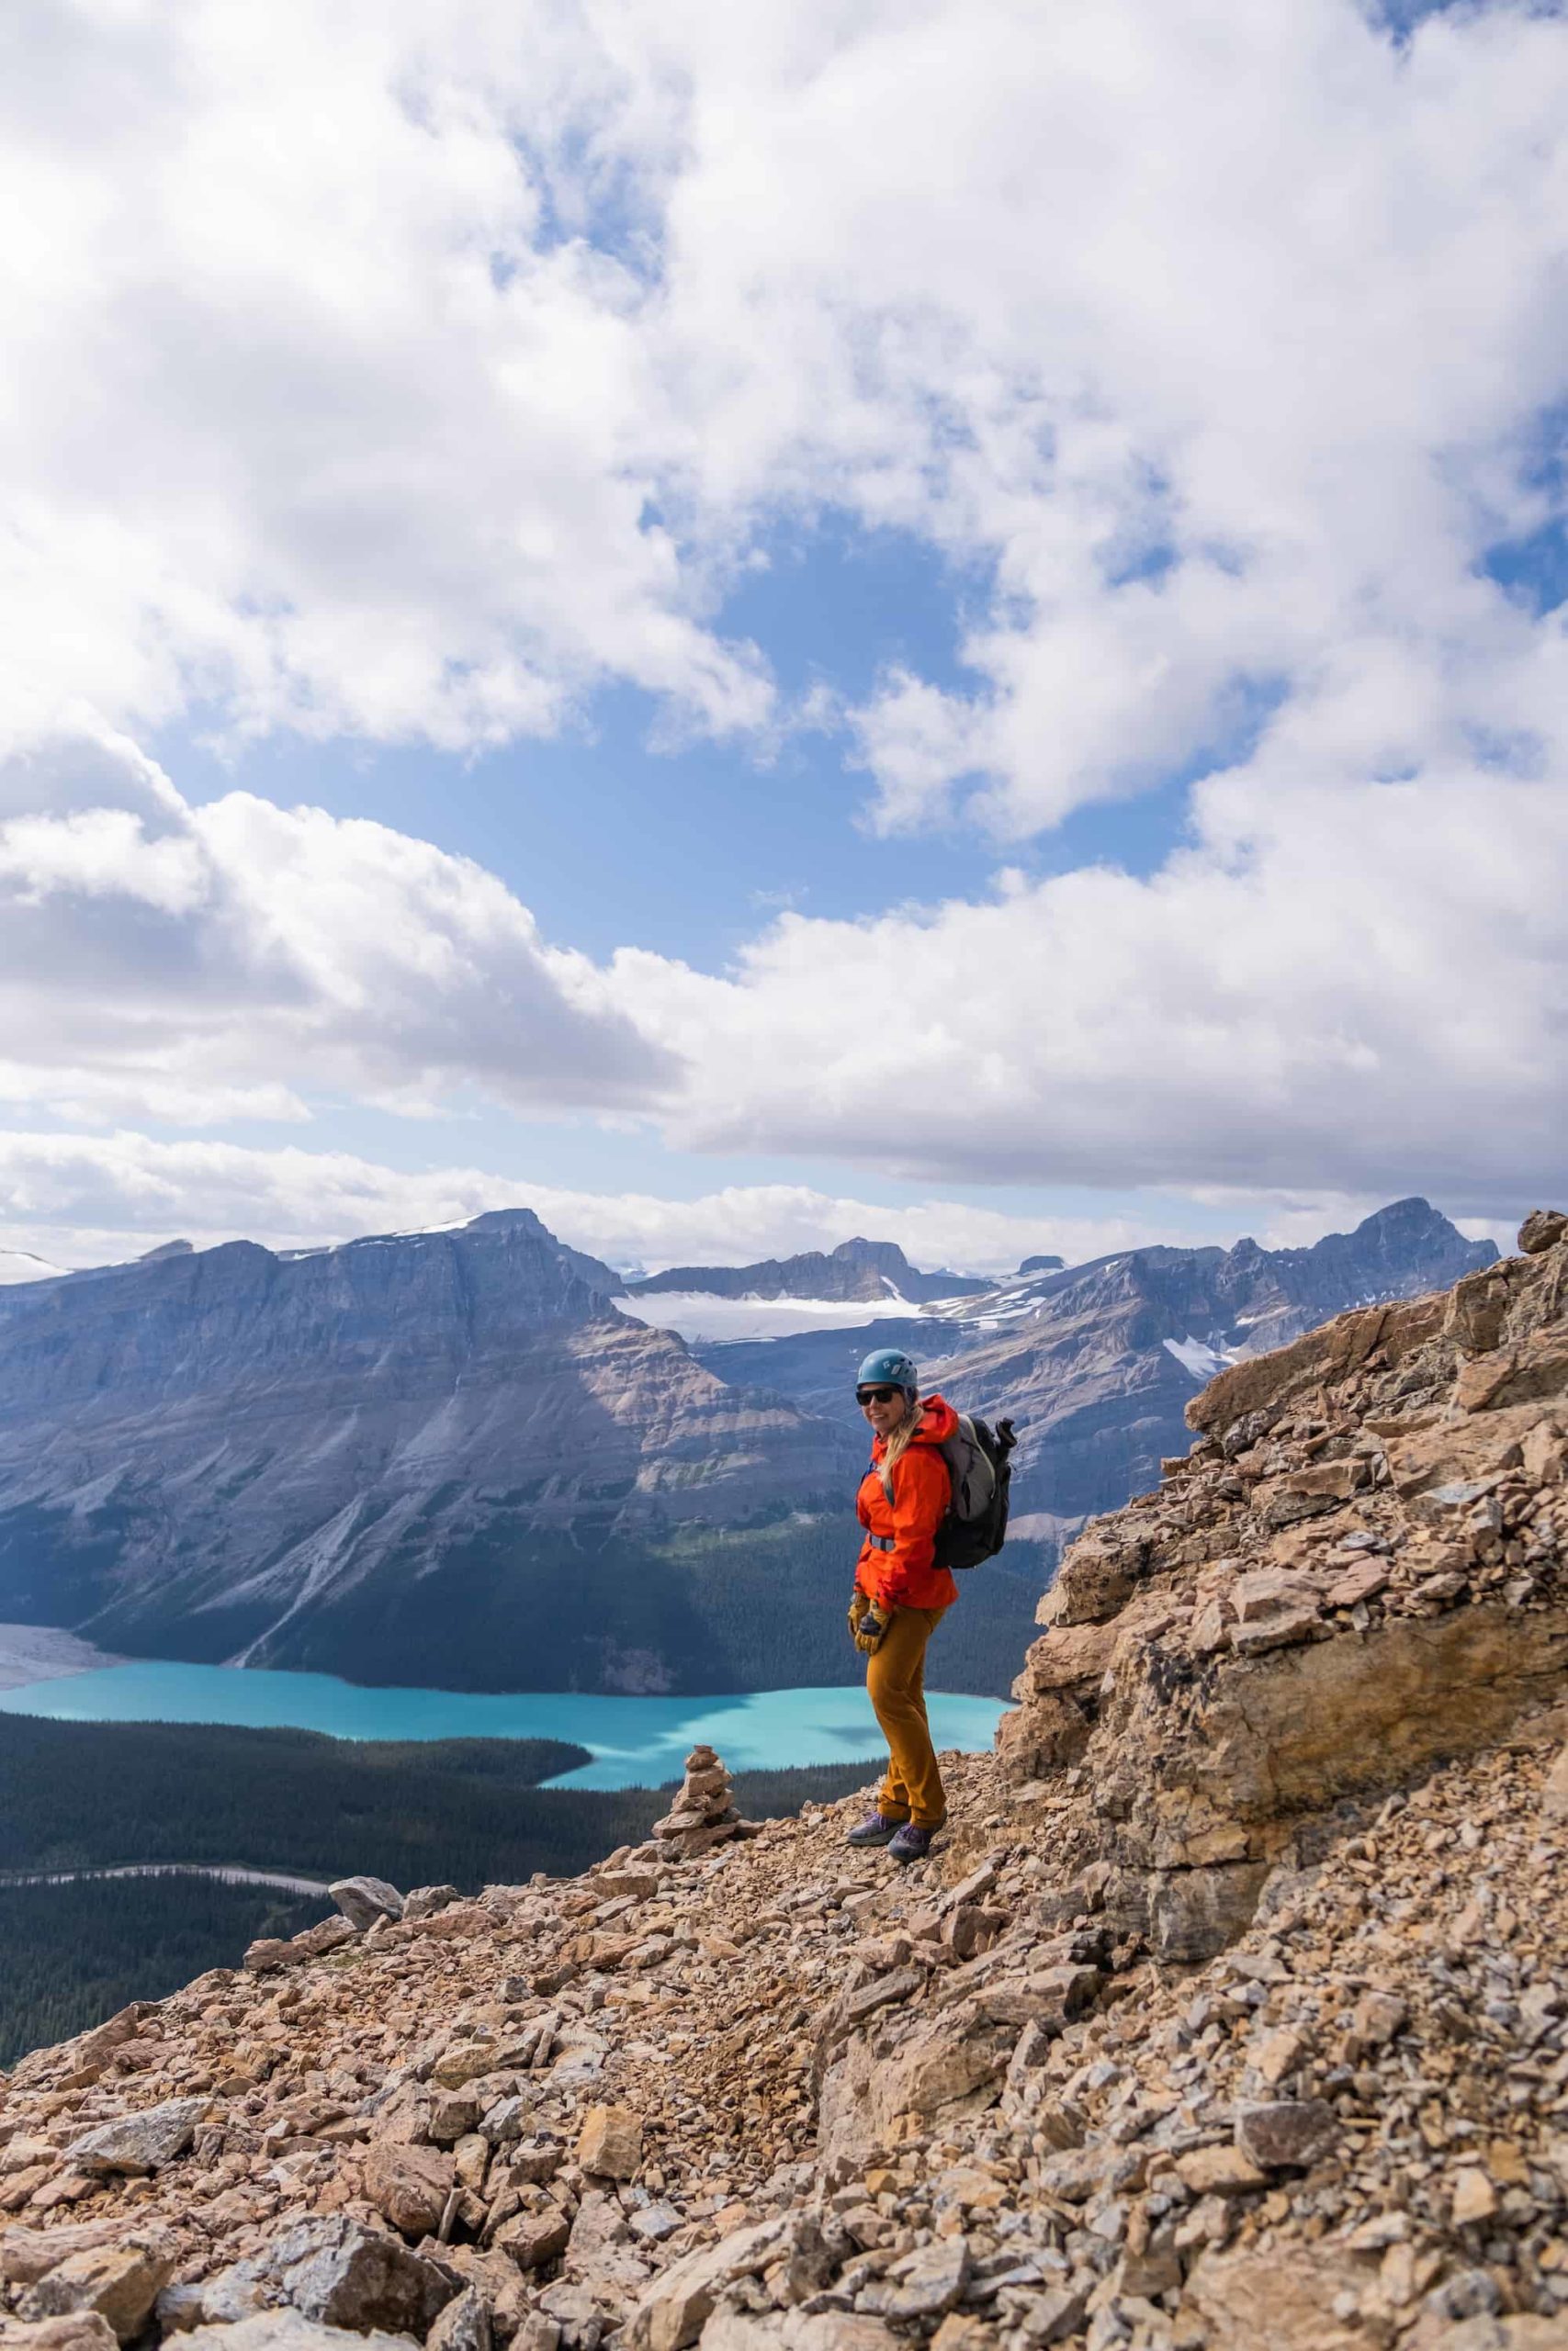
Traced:
[[19, 0], [12, 724], [491, 743], [715, 623], [780, 513], [994, 571], [879, 820], [1556, 731], [1476, 562], [1552, 510], [1568, 49], [1528, 0]]

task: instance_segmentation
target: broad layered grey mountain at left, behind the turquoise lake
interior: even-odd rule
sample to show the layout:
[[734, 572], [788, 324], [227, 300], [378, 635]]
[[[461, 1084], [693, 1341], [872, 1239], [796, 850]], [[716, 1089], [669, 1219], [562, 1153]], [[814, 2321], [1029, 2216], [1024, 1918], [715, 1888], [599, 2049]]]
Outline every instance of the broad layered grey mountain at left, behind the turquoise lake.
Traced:
[[[527, 1620], [571, 1613], [574, 1559], [844, 1488], [837, 1429], [628, 1321], [618, 1286], [505, 1211], [5, 1291], [0, 1615], [421, 1681], [456, 1606], [517, 1674], [496, 1641], [538, 1657]], [[618, 1636], [658, 1674], [686, 1632], [628, 1603]], [[574, 1669], [614, 1686], [607, 1650]]]

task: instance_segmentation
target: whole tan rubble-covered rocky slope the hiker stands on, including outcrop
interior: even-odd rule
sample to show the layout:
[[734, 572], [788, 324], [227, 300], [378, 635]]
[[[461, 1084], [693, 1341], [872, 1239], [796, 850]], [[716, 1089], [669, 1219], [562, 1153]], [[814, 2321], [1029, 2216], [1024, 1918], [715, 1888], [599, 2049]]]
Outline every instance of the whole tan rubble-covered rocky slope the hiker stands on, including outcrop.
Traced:
[[1563, 2351], [1566, 1234], [1197, 1396], [929, 1869], [346, 1881], [26, 2057], [0, 2344]]

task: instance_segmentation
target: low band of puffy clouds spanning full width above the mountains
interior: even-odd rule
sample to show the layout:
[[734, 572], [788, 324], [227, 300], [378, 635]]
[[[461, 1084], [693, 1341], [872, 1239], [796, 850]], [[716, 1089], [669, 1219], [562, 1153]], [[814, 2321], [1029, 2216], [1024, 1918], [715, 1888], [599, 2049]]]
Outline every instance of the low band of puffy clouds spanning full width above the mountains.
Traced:
[[[1199, 785], [1147, 879], [785, 912], [715, 976], [555, 947], [494, 875], [383, 825], [190, 809], [125, 745], [56, 745], [0, 771], [0, 1098], [214, 1126], [484, 1096], [914, 1185], [1429, 1190], [1483, 1218], [1549, 1194], [1568, 792], [1288, 762], [1284, 729]], [[712, 1204], [701, 1230], [731, 1253]]]

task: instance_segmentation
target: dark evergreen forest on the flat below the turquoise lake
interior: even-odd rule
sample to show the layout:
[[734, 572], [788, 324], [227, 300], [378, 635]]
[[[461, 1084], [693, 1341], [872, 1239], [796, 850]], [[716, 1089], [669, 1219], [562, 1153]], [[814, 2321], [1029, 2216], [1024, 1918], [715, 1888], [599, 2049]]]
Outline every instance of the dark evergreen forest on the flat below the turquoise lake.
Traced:
[[[331, 1740], [223, 1723], [52, 1723], [0, 1714], [0, 2067], [235, 1968], [259, 1935], [331, 1904], [270, 1886], [169, 1876], [31, 1881], [127, 1862], [386, 1876], [477, 1893], [576, 1876], [639, 1843], [668, 1789], [555, 1789], [585, 1763], [559, 1740]], [[870, 1763], [736, 1773], [750, 1817], [863, 1787]]]

